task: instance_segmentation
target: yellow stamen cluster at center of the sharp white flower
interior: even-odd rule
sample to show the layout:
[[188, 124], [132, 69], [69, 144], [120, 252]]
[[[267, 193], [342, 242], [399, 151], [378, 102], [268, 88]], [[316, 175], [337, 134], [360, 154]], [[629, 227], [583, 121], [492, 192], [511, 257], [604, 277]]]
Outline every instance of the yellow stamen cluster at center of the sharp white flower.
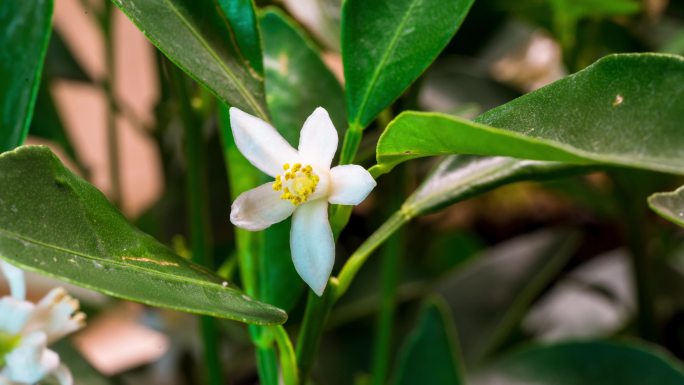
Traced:
[[290, 167], [289, 163], [285, 163], [283, 170], [284, 173], [276, 175], [273, 190], [282, 191], [280, 199], [290, 201], [295, 206], [306, 202], [316, 191], [320, 180], [313, 172], [311, 165], [307, 164], [302, 167], [301, 163], [295, 163]]

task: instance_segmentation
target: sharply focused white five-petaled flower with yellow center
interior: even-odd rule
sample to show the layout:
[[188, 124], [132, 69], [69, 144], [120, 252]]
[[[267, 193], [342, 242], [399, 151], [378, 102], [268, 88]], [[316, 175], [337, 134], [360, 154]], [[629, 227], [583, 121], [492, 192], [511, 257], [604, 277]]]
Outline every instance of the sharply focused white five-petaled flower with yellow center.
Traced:
[[292, 260], [297, 273], [320, 296], [335, 262], [328, 203], [357, 205], [373, 190], [375, 180], [361, 166], [330, 168], [338, 138], [324, 108], [317, 108], [304, 122], [297, 150], [273, 126], [235, 107], [230, 109], [230, 125], [242, 155], [275, 178], [238, 196], [230, 221], [257, 231], [292, 215]]

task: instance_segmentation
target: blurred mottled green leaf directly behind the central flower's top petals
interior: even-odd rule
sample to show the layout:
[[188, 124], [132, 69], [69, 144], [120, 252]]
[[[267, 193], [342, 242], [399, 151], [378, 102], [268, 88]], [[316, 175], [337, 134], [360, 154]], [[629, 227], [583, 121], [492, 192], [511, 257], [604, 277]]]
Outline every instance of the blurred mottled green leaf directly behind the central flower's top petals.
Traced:
[[324, 107], [340, 136], [346, 128], [344, 93], [320, 52], [297, 24], [276, 8], [260, 17], [266, 63], [266, 99], [273, 123], [295, 148], [299, 131]]

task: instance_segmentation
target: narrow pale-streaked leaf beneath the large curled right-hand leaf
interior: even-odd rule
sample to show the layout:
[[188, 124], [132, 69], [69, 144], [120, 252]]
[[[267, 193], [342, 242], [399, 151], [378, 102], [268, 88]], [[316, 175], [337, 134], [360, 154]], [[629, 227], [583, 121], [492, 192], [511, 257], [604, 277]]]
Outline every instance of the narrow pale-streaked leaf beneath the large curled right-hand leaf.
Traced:
[[586, 170], [557, 162], [452, 155], [442, 160], [406, 199], [402, 211], [415, 217], [509, 183], [558, 178]]

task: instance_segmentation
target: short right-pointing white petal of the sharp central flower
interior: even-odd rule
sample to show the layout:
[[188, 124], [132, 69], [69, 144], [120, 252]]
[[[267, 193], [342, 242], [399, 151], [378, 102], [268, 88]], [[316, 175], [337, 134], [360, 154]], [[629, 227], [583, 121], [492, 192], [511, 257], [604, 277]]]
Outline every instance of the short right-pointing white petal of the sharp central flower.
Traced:
[[338, 205], [358, 205], [375, 188], [377, 183], [363, 167], [346, 164], [330, 170], [330, 196], [328, 202]]

